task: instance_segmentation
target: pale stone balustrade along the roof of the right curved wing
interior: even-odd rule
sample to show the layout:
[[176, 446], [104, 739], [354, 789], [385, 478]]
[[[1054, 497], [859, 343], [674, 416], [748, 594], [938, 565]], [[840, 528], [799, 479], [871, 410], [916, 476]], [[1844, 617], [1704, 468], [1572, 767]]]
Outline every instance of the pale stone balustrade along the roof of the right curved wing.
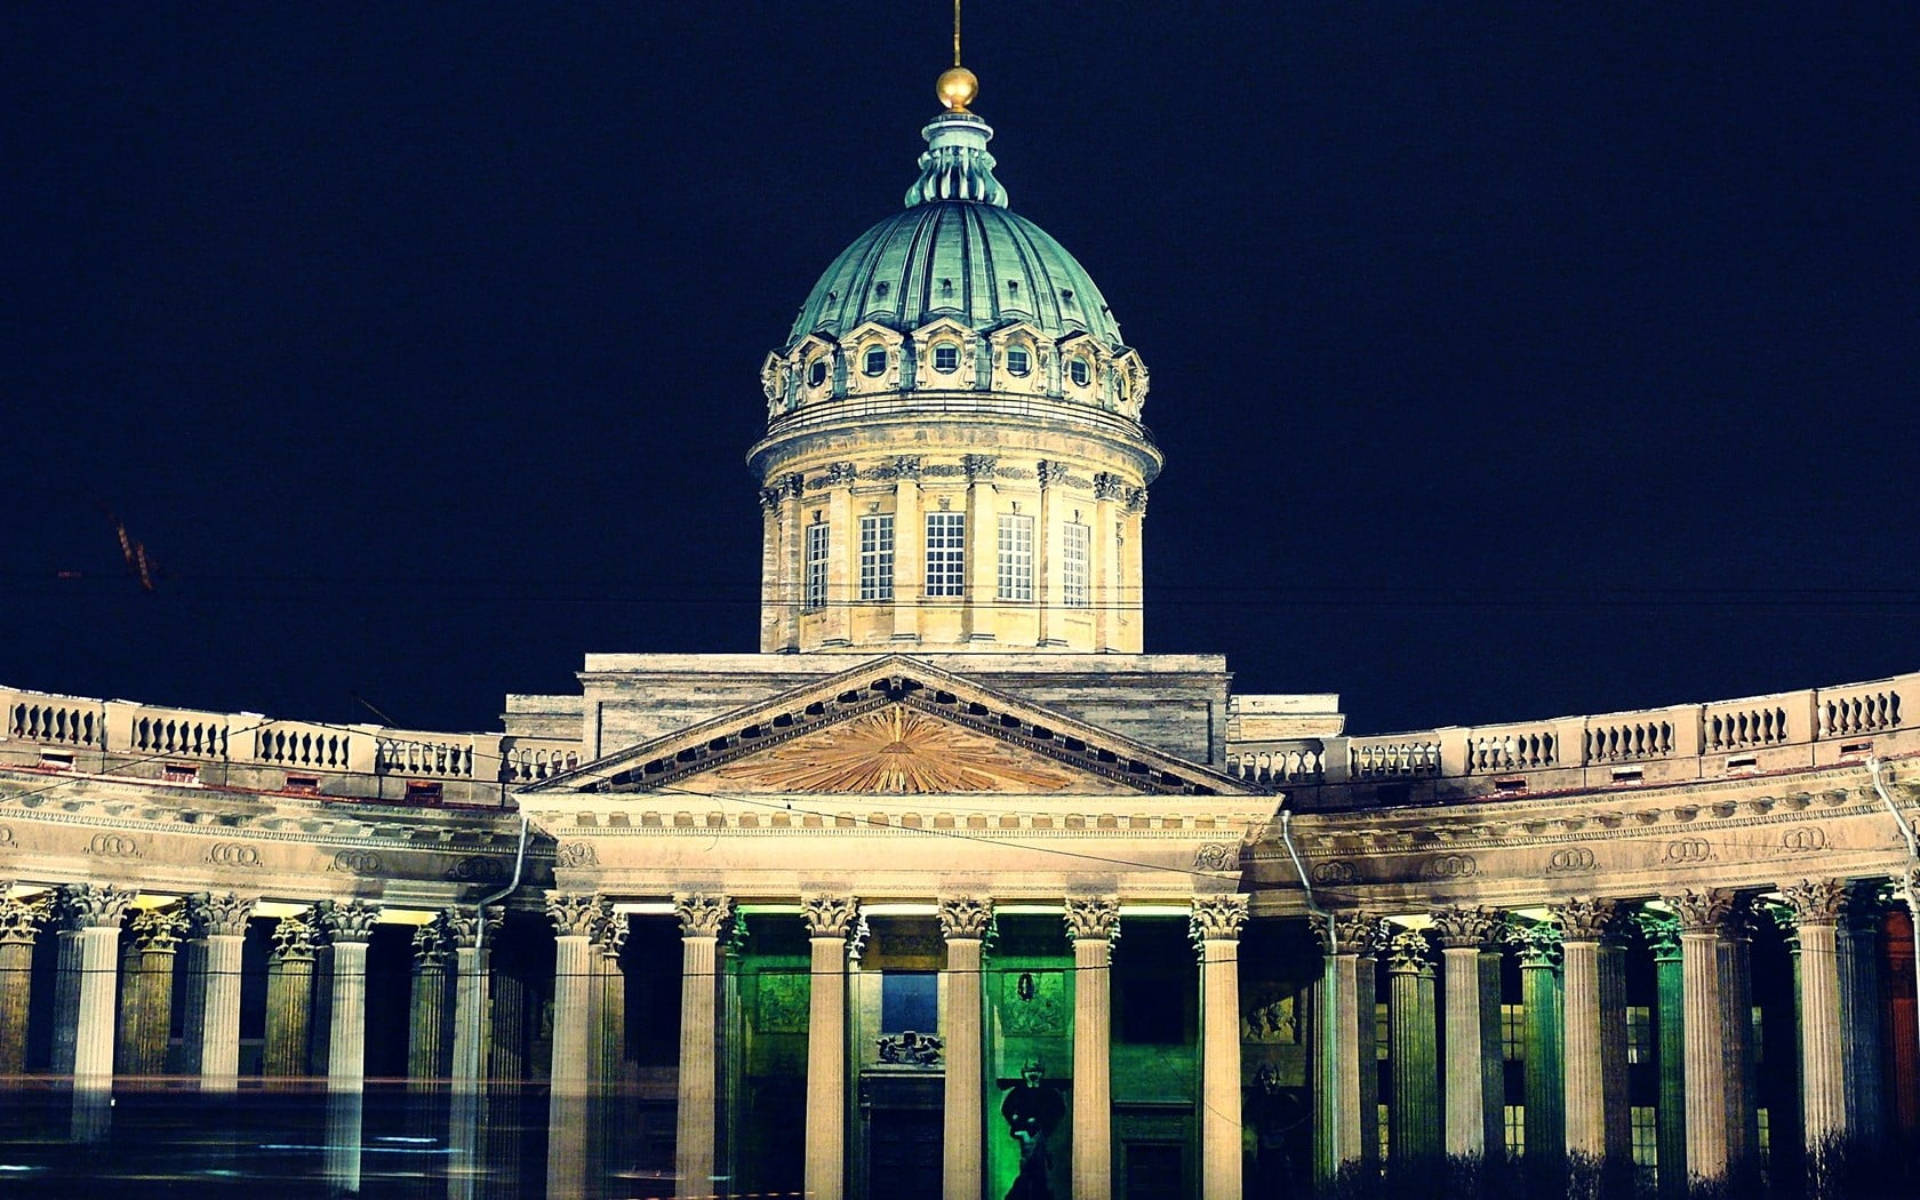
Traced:
[[[1876, 749], [1920, 751], [1916, 705], [1920, 674], [1907, 674], [1603, 716], [1229, 741], [1227, 774], [1290, 785], [1304, 803], [1329, 806], [1716, 780], [1828, 766]], [[1325, 795], [1309, 795], [1313, 789]]]

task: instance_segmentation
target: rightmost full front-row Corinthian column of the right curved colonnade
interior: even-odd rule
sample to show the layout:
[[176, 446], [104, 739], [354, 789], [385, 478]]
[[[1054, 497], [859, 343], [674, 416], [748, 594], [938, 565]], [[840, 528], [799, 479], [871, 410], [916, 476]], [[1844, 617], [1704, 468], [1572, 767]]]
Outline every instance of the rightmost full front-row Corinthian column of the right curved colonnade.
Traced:
[[1836, 927], [1847, 906], [1839, 879], [1803, 879], [1780, 889], [1799, 925], [1801, 1116], [1812, 1167], [1847, 1135], [1845, 1046], [1839, 1029]]

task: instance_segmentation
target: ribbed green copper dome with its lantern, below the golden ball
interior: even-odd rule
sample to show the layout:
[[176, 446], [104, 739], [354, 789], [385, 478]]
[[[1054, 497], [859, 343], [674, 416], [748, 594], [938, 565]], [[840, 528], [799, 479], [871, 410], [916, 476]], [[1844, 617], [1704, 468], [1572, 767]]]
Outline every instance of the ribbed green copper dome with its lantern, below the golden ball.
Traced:
[[1087, 271], [1046, 230], [1006, 209], [987, 154], [993, 129], [970, 113], [945, 113], [924, 136], [906, 211], [833, 259], [787, 344], [839, 338], [866, 321], [908, 332], [952, 317], [975, 330], [1027, 321], [1054, 338], [1085, 332], [1121, 348], [1119, 323]]

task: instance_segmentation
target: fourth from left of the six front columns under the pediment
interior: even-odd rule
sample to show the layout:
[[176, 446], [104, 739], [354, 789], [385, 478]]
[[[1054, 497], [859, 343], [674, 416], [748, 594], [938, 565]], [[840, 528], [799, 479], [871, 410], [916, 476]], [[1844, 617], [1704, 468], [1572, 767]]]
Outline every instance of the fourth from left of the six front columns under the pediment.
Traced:
[[981, 1200], [985, 1173], [981, 1129], [985, 1106], [981, 945], [993, 925], [993, 906], [979, 897], [941, 900], [947, 939], [947, 1094], [941, 1165], [945, 1200]]

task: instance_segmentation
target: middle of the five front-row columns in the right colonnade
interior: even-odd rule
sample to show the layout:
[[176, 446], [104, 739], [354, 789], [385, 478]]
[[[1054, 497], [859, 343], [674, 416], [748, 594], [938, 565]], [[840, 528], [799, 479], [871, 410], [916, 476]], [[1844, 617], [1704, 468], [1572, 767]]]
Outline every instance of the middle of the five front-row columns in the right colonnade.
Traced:
[[1626, 987], [1613, 900], [1549, 908], [1565, 952], [1567, 1154], [1601, 1164], [1626, 1133]]

